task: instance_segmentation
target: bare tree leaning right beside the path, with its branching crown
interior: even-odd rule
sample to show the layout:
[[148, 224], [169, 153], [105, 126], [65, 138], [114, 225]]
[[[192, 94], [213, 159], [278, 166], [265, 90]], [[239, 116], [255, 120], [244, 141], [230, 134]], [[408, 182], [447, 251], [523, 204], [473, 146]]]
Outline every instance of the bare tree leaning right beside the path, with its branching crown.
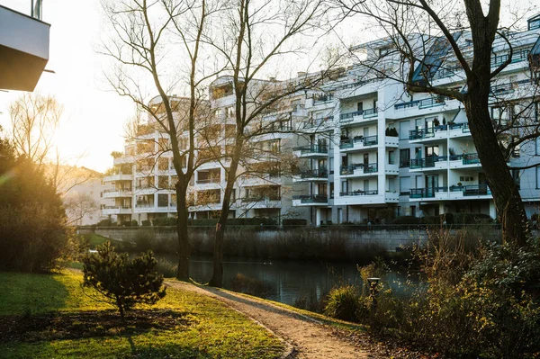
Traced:
[[[308, 36], [320, 36], [326, 8], [322, 1], [285, 0], [238, 0], [221, 17], [224, 40], [211, 40], [220, 51], [229, 69], [223, 77], [224, 85], [232, 88], [234, 96], [234, 120], [236, 133], [229, 151], [226, 167], [226, 187], [216, 226], [213, 248], [213, 271], [210, 284], [220, 287], [223, 278], [223, 238], [231, 205], [231, 194], [238, 175], [241, 159], [245, 157], [249, 143], [258, 135], [279, 131], [275, 123], [279, 119], [266, 115], [279, 112], [285, 100], [292, 94], [311, 88], [328, 76], [327, 71], [317, 76], [303, 76], [298, 81], [263, 81], [268, 68], [283, 61], [287, 55], [299, 54], [313, 45]], [[216, 91], [217, 93], [214, 93]], [[220, 97], [220, 87], [211, 91], [211, 100]], [[287, 129], [291, 131], [291, 129]]]

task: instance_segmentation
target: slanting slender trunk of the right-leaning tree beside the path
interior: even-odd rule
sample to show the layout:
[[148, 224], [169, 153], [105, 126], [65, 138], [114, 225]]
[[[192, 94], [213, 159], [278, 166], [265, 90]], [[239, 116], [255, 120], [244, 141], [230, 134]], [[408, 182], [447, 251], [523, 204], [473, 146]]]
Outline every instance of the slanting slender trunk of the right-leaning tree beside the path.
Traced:
[[211, 280], [208, 283], [212, 287], [221, 287], [223, 285], [223, 238], [225, 237], [225, 229], [227, 227], [227, 219], [229, 218], [230, 195], [234, 189], [236, 173], [240, 158], [242, 142], [238, 141], [234, 150], [233, 157], [230, 161], [229, 173], [227, 175], [227, 185], [225, 186], [225, 194], [223, 205], [221, 206], [220, 220], [216, 225], [216, 235], [213, 246], [213, 268]]

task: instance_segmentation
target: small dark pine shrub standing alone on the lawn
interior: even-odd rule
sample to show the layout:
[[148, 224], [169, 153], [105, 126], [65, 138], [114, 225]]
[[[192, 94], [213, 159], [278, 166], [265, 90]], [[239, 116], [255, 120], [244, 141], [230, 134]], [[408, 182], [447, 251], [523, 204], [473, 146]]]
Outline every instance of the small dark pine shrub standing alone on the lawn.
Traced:
[[83, 260], [85, 287], [92, 287], [105, 301], [115, 306], [121, 318], [137, 303], [155, 304], [165, 297], [163, 275], [155, 270], [157, 261], [151, 251], [130, 260], [117, 255], [111, 242], [97, 247], [97, 253]]

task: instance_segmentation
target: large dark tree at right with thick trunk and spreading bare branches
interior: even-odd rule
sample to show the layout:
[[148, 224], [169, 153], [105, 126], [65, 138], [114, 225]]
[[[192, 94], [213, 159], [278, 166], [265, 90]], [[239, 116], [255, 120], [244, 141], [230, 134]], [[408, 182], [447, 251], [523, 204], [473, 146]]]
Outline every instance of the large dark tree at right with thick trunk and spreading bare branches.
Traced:
[[[409, 93], [437, 94], [464, 104], [502, 223], [503, 240], [525, 245], [527, 217], [507, 165], [508, 154], [519, 140], [503, 141], [506, 145], [501, 151], [500, 132], [494, 130], [490, 113], [492, 83], [514, 58], [512, 31], [500, 28], [500, 0], [488, 4], [480, 0], [336, 0], [335, 4], [344, 16], [364, 15], [385, 37], [386, 53], [371, 60], [357, 58], [358, 66], [380, 78], [402, 82]], [[471, 34], [466, 46], [461, 41], [464, 32]], [[509, 56], [493, 66], [495, 40], [504, 42]], [[438, 85], [434, 75], [441, 69], [460, 77], [463, 85]]]

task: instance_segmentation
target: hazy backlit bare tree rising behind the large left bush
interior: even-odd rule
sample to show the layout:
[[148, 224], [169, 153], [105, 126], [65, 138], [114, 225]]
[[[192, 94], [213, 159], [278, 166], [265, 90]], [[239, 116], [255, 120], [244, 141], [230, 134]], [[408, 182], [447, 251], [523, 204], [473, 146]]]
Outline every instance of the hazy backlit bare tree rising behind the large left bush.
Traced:
[[9, 107], [14, 148], [41, 165], [53, 146], [63, 106], [49, 95], [25, 93]]

